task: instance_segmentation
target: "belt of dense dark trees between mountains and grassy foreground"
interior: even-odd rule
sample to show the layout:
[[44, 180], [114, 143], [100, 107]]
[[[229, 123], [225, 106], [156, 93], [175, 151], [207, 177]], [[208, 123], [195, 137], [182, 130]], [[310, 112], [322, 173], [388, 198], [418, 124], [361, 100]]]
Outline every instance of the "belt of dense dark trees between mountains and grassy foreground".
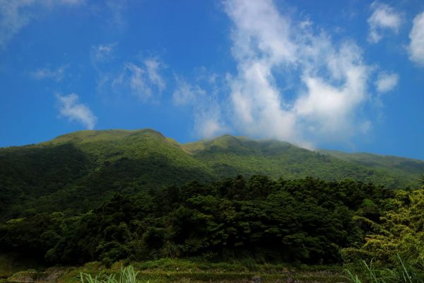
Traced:
[[424, 190], [254, 175], [119, 193], [82, 214], [38, 213], [0, 226], [0, 252], [54, 264], [197, 256], [338, 264], [424, 257]]

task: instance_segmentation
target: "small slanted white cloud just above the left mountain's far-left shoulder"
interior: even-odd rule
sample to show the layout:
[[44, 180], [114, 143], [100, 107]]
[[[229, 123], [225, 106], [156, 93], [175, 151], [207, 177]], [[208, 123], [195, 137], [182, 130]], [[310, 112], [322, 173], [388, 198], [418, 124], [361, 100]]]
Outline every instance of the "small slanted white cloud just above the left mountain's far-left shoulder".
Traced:
[[62, 117], [68, 118], [71, 122], [79, 122], [87, 129], [93, 129], [97, 117], [91, 112], [88, 106], [79, 102], [79, 97], [76, 93], [61, 96], [57, 95], [59, 103], [59, 111]]

